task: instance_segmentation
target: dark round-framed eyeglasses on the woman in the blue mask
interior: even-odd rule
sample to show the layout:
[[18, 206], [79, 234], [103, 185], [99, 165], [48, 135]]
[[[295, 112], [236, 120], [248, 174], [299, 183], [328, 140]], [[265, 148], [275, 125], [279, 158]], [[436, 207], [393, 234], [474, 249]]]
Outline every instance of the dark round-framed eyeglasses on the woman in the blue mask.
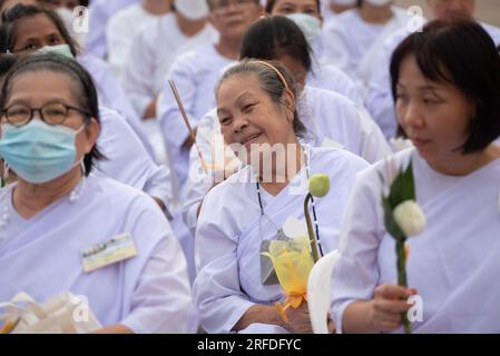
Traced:
[[67, 106], [60, 102], [46, 103], [41, 108], [30, 108], [23, 103], [14, 103], [1, 110], [2, 119], [7, 122], [20, 127], [27, 125], [33, 118], [33, 112], [40, 112], [40, 118], [48, 125], [61, 125], [68, 118], [70, 110], [78, 111], [86, 117], [91, 115], [88, 111]]

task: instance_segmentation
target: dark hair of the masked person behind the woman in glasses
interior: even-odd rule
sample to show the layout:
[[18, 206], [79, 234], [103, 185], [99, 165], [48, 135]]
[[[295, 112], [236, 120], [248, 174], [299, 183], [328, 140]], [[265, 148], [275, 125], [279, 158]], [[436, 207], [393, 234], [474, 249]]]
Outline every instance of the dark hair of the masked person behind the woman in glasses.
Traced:
[[55, 12], [53, 10], [45, 7], [31, 4], [27, 6], [22, 3], [18, 3], [12, 8], [9, 8], [1, 14], [0, 52], [13, 52], [13, 47], [16, 46], [16, 26], [18, 21], [38, 14], [45, 14], [52, 21], [65, 42], [69, 46], [71, 53], [76, 57], [79, 48], [69, 34], [59, 14], [57, 14], [57, 12]]

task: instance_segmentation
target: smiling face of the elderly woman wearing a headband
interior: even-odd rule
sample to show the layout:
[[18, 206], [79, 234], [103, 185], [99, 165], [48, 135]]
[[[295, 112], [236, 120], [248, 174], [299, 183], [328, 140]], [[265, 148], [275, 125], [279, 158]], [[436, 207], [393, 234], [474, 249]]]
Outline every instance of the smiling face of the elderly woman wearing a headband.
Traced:
[[225, 142], [242, 145], [248, 155], [251, 148], [263, 144], [286, 145], [295, 134], [293, 110], [285, 106], [293, 108], [292, 95], [284, 97], [284, 105], [275, 103], [261, 88], [255, 73], [229, 77], [217, 93], [217, 116]]

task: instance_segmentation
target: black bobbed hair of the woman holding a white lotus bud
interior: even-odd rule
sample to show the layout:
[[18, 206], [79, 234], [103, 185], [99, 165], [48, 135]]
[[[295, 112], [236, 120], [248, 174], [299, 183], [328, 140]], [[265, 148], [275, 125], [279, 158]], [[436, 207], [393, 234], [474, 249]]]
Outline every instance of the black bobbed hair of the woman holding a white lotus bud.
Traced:
[[484, 29], [470, 20], [429, 22], [410, 34], [391, 59], [391, 89], [396, 101], [402, 61], [414, 56], [422, 75], [458, 87], [476, 107], [463, 154], [483, 150], [500, 136], [500, 56]]

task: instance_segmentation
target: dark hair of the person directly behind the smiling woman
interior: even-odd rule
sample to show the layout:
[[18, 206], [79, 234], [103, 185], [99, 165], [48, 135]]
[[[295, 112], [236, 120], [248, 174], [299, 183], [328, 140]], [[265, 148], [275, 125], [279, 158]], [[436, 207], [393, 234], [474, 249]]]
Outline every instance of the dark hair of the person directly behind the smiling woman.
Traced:
[[290, 56], [310, 71], [311, 47], [301, 28], [291, 19], [273, 16], [254, 22], [242, 40], [241, 58], [276, 60]]

